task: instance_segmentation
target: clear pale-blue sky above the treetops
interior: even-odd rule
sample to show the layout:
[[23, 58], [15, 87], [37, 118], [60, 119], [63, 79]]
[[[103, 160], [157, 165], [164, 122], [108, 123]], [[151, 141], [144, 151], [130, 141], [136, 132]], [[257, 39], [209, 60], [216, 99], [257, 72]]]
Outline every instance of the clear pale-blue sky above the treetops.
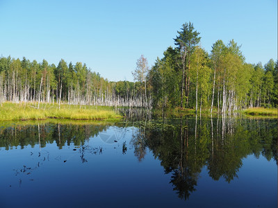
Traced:
[[152, 66], [189, 21], [208, 52], [234, 39], [246, 62], [277, 60], [277, 0], [0, 0], [0, 55], [56, 65], [63, 58], [132, 81], [140, 55]]

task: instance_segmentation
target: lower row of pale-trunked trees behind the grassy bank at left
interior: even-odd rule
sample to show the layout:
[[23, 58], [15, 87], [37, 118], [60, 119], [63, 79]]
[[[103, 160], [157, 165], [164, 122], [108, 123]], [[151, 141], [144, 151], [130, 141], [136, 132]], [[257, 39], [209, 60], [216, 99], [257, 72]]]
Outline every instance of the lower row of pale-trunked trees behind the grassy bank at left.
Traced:
[[109, 82], [81, 62], [61, 59], [56, 66], [47, 60], [0, 58], [0, 102], [142, 107], [145, 94], [140, 92], [140, 83]]

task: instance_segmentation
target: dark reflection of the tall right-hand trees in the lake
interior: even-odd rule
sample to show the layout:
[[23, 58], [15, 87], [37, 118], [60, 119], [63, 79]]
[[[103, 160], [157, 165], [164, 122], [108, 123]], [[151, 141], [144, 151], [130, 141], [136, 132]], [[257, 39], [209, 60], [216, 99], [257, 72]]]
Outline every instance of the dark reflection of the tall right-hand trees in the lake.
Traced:
[[172, 175], [173, 190], [186, 200], [195, 191], [204, 166], [213, 180], [222, 177], [231, 182], [247, 155], [277, 159], [277, 121], [224, 117], [142, 122], [133, 145], [138, 159], [146, 147], [152, 150], [165, 173]]

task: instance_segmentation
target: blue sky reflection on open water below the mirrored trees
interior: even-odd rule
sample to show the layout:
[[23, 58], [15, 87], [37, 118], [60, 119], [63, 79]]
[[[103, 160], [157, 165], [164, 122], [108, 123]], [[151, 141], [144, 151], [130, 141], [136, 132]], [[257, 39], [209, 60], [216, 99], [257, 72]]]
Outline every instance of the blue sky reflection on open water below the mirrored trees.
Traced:
[[[39, 145], [12, 150], [2, 148], [0, 207], [50, 207], [60, 203], [65, 207], [275, 207], [275, 161], [249, 155], [242, 159], [238, 178], [230, 183], [222, 177], [214, 181], [204, 166], [196, 191], [185, 202], [172, 190], [171, 174], [165, 175], [161, 162], [154, 159], [152, 152], [147, 149], [145, 158], [138, 162], [131, 144], [133, 132], [136, 128], [112, 126], [99, 132], [97, 137], [91, 137], [83, 145], [84, 158], [88, 161], [84, 163], [81, 147], [74, 144], [60, 150], [55, 142], [41, 149]], [[114, 136], [117, 142], [106, 143], [101, 134]], [[122, 154], [124, 142], [125, 155]], [[100, 147], [102, 153], [99, 153]], [[30, 174], [20, 172], [24, 166], [32, 168]], [[19, 172], [17, 175], [14, 169]]]

